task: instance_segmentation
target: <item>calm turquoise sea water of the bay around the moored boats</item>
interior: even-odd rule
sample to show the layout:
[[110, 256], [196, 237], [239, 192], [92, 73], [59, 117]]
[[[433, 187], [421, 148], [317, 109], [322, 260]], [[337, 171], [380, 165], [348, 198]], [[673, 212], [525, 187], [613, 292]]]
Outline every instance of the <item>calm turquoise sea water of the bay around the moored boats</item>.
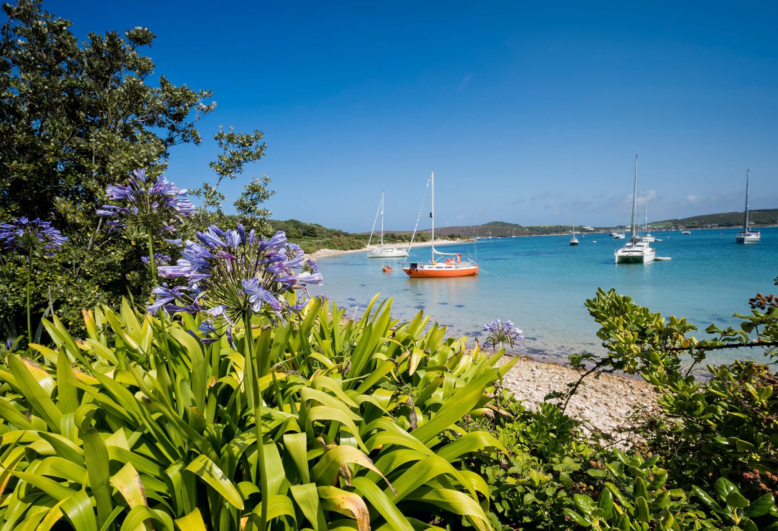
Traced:
[[[419, 309], [449, 327], [450, 335], [477, 336], [484, 323], [512, 320], [524, 330], [520, 353], [550, 360], [577, 351], [600, 351], [597, 323], [584, 301], [598, 287], [616, 288], [636, 303], [663, 316], [686, 317], [704, 329], [737, 325], [733, 313], [748, 313], [748, 298], [757, 292], [774, 293], [778, 286], [778, 227], [762, 229], [760, 243], [734, 243], [738, 229], [654, 232], [657, 256], [669, 261], [650, 264], [614, 264], [613, 252], [623, 243], [608, 234], [529, 236], [478, 240], [475, 252], [481, 274], [476, 277], [410, 279], [399, 267], [402, 260], [380, 260], [365, 253], [320, 258], [327, 293], [338, 306], [364, 309], [377, 292], [392, 297], [393, 313], [410, 319]], [[594, 240], [597, 243], [594, 243]], [[473, 243], [440, 246], [444, 252], [474, 252]], [[415, 247], [408, 261], [429, 260], [429, 247]], [[464, 256], [464, 255], [463, 255]], [[394, 267], [384, 273], [384, 264]], [[712, 362], [731, 359], [727, 355]], [[738, 358], [762, 358], [761, 352], [739, 351]]]

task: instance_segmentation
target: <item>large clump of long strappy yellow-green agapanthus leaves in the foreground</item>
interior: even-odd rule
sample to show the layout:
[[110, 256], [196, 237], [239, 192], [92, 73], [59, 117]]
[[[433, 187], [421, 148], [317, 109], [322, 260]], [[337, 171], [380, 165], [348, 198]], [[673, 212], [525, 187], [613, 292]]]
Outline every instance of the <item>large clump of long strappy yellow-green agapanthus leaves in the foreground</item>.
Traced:
[[[191, 316], [163, 330], [127, 302], [85, 312], [85, 339], [45, 321], [57, 348], [0, 370], [2, 525], [256, 529], [265, 499], [279, 529], [437, 529], [452, 514], [488, 529], [489, 487], [451, 463], [502, 445], [441, 434], [488, 407], [510, 363], [496, 369], [501, 353], [465, 353], [436, 326], [422, 334], [421, 314], [398, 326], [389, 304], [356, 323], [319, 304], [285, 327], [236, 326], [237, 350], [202, 345]], [[266, 493], [251, 393], [265, 403]]]

